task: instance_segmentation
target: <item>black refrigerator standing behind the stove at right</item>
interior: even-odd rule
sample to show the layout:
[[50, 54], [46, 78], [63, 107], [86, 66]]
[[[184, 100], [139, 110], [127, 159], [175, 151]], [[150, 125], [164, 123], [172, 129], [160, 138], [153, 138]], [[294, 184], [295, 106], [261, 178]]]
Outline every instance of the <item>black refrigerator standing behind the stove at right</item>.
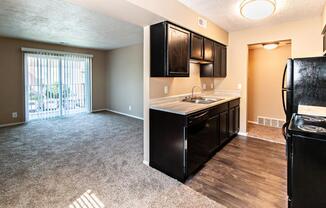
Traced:
[[299, 105], [326, 106], [326, 57], [289, 59], [282, 82], [286, 124]]

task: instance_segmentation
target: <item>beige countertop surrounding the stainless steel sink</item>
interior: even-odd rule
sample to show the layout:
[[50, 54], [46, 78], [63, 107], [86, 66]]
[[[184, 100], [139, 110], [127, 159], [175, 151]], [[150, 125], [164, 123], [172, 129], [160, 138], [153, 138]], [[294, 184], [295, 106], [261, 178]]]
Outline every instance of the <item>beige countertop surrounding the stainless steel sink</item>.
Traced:
[[222, 98], [223, 100], [210, 103], [210, 104], [200, 104], [200, 103], [190, 103], [190, 102], [183, 102], [182, 99], [184, 97], [174, 97], [174, 99], [166, 98], [160, 99], [159, 101], [153, 102], [150, 105], [150, 109], [165, 111], [169, 113], [175, 113], [180, 115], [188, 115], [191, 113], [195, 113], [200, 110], [208, 109], [213, 106], [220, 105], [222, 103], [229, 102], [234, 99], [240, 98], [237, 95], [229, 95], [229, 96], [220, 96], [220, 95], [202, 95], [204, 98], [210, 99], [219, 99]]

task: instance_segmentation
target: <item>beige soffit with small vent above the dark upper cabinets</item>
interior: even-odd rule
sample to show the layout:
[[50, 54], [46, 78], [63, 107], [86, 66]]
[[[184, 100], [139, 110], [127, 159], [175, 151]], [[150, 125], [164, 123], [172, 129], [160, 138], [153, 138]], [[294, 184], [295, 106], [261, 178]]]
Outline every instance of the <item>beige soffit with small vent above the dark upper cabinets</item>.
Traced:
[[200, 27], [197, 22], [198, 17], [202, 15], [176, 0], [128, 0], [128, 2], [220, 43], [228, 44], [228, 32], [207, 18], [205, 18], [208, 21], [207, 28]]

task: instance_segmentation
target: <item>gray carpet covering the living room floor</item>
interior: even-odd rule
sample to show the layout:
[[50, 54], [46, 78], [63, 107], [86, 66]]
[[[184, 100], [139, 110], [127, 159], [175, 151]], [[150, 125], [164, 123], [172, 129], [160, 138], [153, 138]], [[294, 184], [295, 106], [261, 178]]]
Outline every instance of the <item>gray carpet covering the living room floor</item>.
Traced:
[[94, 208], [223, 207], [144, 165], [142, 128], [95, 113], [0, 129], [0, 207], [78, 207], [86, 191]]

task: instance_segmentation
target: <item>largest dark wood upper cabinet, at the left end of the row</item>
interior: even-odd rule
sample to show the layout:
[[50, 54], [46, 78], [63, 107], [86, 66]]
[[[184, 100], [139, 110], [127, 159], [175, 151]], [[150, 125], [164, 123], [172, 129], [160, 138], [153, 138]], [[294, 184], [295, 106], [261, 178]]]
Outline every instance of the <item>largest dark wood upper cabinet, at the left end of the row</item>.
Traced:
[[151, 77], [188, 77], [190, 32], [169, 22], [150, 27]]

